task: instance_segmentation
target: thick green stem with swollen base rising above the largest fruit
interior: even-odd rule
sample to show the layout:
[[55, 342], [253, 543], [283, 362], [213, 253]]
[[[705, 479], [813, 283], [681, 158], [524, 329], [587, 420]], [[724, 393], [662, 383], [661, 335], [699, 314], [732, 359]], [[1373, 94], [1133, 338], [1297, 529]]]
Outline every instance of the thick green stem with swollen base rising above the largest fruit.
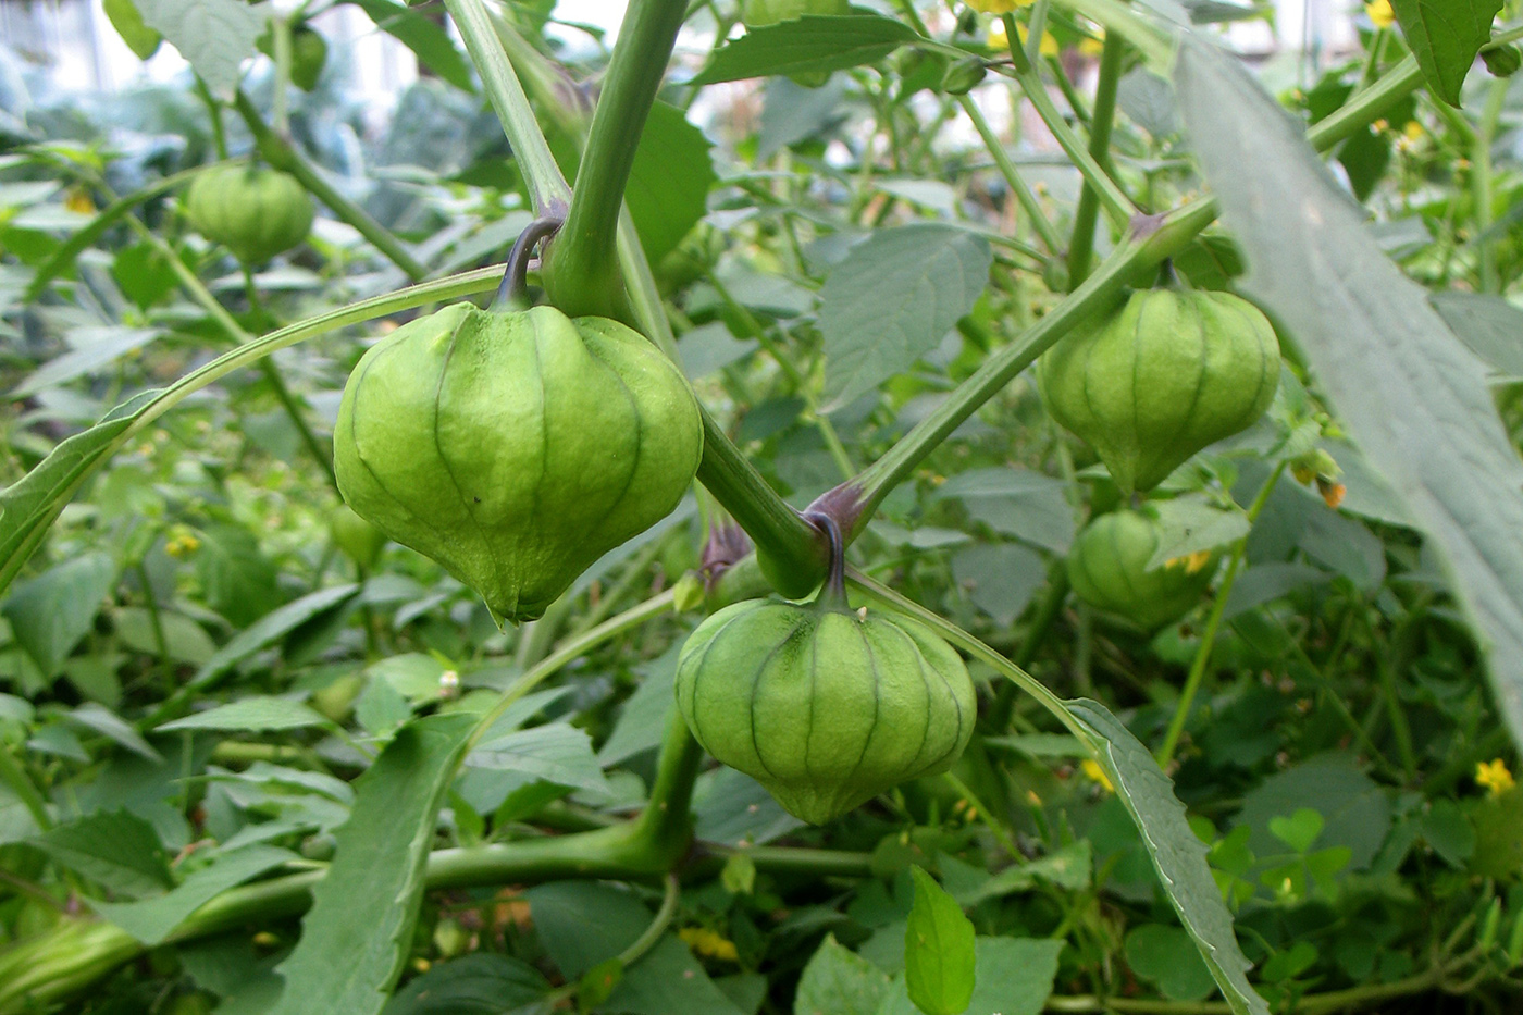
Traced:
[[571, 317], [631, 317], [618, 270], [618, 213], [685, 14], [684, 0], [631, 0], [624, 11], [571, 187], [571, 210], [541, 270], [550, 303]]

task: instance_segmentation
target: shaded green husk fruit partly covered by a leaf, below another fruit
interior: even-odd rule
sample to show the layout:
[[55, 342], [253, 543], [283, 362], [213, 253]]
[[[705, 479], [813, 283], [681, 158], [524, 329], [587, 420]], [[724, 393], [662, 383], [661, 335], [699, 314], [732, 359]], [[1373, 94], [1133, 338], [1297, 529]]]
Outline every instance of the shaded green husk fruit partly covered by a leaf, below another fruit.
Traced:
[[1135, 511], [1100, 515], [1068, 552], [1074, 594], [1097, 610], [1151, 631], [1177, 620], [1211, 585], [1215, 555], [1170, 561], [1147, 568], [1157, 552], [1157, 527]]

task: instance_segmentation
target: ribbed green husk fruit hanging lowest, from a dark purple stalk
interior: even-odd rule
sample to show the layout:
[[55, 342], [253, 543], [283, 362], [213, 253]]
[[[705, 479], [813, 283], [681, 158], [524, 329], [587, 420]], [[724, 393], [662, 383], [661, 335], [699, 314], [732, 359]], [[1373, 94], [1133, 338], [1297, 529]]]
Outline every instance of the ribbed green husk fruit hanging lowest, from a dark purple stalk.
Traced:
[[931, 628], [829, 600], [725, 607], [676, 669], [678, 707], [704, 750], [812, 824], [949, 770], [976, 709], [967, 666]]

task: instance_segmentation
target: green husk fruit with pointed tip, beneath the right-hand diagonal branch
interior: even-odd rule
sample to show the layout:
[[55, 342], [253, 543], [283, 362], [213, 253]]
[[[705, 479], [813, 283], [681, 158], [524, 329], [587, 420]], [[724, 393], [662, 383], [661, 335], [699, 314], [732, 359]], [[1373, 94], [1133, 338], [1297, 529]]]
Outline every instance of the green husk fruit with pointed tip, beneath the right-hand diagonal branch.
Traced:
[[1275, 329], [1229, 293], [1139, 290], [1037, 361], [1048, 411], [1125, 492], [1250, 427], [1278, 384]]

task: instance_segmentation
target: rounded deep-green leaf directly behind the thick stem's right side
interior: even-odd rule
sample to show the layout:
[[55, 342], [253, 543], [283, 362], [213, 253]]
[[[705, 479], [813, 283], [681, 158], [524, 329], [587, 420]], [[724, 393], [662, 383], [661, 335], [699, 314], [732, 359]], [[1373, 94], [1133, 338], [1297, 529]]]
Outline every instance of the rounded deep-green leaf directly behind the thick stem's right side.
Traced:
[[666, 102], [650, 107], [624, 186], [624, 204], [650, 264], [659, 264], [708, 212], [708, 191], [719, 180], [710, 148], [682, 110]]

